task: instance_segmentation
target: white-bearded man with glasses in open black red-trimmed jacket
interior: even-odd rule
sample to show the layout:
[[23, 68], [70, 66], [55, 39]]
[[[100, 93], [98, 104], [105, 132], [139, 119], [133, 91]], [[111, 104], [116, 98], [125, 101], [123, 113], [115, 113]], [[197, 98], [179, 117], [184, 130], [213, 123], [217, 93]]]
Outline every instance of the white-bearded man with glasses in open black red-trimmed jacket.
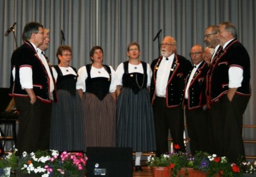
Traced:
[[150, 96], [155, 119], [157, 156], [168, 152], [168, 131], [171, 132], [174, 150], [185, 152], [183, 139], [183, 99], [185, 77], [192, 65], [185, 57], [176, 54], [174, 38], [164, 37], [158, 59], [151, 63]]

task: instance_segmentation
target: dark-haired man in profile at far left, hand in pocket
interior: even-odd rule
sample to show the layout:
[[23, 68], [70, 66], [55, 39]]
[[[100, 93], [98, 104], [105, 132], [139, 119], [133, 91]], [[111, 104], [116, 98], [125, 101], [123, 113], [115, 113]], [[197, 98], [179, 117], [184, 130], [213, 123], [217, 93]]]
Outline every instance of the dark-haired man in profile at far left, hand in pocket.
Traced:
[[56, 100], [53, 76], [46, 68], [49, 65], [44, 65], [37, 52], [44, 41], [44, 27], [28, 23], [22, 37], [23, 45], [11, 58], [11, 95], [19, 111], [18, 155], [49, 149], [51, 103]]

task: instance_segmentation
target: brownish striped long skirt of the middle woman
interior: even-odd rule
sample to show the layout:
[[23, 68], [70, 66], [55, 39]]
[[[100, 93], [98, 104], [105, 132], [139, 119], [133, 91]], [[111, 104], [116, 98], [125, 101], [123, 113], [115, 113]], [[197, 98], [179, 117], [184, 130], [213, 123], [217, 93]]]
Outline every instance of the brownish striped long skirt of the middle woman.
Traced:
[[84, 151], [87, 147], [115, 147], [116, 103], [110, 94], [103, 100], [85, 92], [82, 98], [84, 114]]

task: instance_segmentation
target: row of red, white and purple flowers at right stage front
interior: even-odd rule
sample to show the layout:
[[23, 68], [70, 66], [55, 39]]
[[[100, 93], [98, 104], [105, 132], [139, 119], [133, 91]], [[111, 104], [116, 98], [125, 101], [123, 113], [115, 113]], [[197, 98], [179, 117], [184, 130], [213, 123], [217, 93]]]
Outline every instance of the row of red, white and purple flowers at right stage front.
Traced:
[[182, 167], [199, 170], [207, 176], [256, 174], [256, 162], [229, 163], [226, 157], [218, 157], [216, 154], [210, 155], [206, 152], [198, 152], [194, 156], [182, 152], [162, 154], [160, 157], [149, 156], [148, 162], [151, 167], [165, 167], [166, 174], [172, 171], [172, 176], [176, 176]]

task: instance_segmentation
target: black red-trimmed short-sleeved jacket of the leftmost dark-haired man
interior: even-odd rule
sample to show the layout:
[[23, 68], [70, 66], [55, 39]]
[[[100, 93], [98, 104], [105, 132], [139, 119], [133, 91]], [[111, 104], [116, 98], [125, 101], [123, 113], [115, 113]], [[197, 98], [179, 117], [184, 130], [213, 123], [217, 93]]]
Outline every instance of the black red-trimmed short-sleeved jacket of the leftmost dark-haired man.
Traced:
[[[36, 50], [32, 44], [25, 41], [11, 57], [12, 68], [15, 67], [15, 81], [11, 80], [11, 96], [25, 96], [28, 97], [27, 92], [21, 89], [19, 70], [22, 67], [30, 67], [32, 69], [33, 91], [37, 99], [44, 103], [51, 103], [50, 99], [50, 78], [47, 71], [42, 64], [41, 59], [37, 55]], [[51, 68], [50, 68], [51, 71]], [[52, 72], [51, 72], [52, 74]], [[52, 74], [53, 77], [53, 74]], [[11, 79], [13, 79], [11, 77]], [[53, 77], [54, 79], [54, 77]], [[54, 100], [57, 100], [56, 92], [53, 92]]]

